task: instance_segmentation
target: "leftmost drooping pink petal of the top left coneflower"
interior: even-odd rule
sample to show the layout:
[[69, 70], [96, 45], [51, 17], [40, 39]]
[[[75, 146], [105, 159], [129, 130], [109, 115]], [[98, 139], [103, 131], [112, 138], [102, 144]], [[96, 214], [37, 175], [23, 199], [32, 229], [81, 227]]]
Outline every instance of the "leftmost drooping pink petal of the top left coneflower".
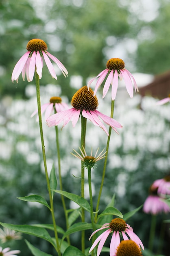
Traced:
[[22, 69], [28, 59], [28, 56], [29, 56], [30, 52], [26, 52], [21, 58], [20, 60], [17, 62], [17, 64], [15, 65], [14, 69], [13, 69], [13, 72], [12, 72], [12, 77], [11, 77], [11, 80], [14, 81], [14, 80], [17, 80], [19, 75], [21, 74], [22, 72]]

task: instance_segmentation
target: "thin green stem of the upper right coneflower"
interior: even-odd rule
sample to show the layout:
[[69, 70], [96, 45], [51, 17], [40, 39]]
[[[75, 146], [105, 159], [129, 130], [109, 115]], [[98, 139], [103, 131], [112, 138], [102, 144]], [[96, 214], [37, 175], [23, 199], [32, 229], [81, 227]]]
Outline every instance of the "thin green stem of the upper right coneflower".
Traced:
[[[110, 117], [111, 118], [113, 118], [114, 105], [115, 105], [115, 101], [111, 100], [111, 113], [110, 113]], [[111, 126], [109, 126], [109, 136], [107, 138], [107, 146], [106, 146], [106, 157], [105, 157], [105, 162], [104, 162], [104, 167], [103, 167], [102, 181], [101, 181], [100, 190], [99, 190], [99, 193], [98, 193], [98, 200], [97, 200], [97, 204], [96, 204], [96, 214], [95, 214], [95, 218], [94, 218], [94, 222], [95, 223], [97, 222], [100, 197], [101, 197], [102, 188], [103, 188], [103, 184], [104, 184], [104, 180], [105, 180], [105, 173], [106, 173], [106, 166], [107, 166], [107, 157], [108, 157], [108, 152], [109, 152], [110, 136], [111, 136]]]

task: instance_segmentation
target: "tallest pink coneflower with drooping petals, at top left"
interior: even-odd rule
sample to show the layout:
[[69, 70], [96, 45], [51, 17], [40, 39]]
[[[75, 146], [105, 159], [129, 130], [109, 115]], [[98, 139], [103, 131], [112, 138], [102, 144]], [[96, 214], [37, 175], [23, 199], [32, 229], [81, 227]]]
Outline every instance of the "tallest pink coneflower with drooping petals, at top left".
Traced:
[[[52, 78], [57, 79], [57, 76], [55, 74], [54, 67], [50, 61], [49, 58], [54, 61], [64, 76], [68, 75], [68, 71], [64, 67], [64, 65], [52, 54], [47, 52], [47, 45], [46, 43], [41, 39], [32, 39], [28, 42], [26, 49], [28, 52], [26, 52], [20, 60], [15, 65], [13, 72], [12, 72], [12, 81], [17, 81], [18, 78], [22, 72], [22, 79], [25, 80], [25, 74], [28, 82], [33, 81], [35, 68], [36, 72], [39, 75], [39, 79], [42, 77], [42, 68], [43, 68], [43, 58], [44, 61], [48, 67], [48, 70], [52, 76]], [[48, 58], [49, 57], [49, 58]]]

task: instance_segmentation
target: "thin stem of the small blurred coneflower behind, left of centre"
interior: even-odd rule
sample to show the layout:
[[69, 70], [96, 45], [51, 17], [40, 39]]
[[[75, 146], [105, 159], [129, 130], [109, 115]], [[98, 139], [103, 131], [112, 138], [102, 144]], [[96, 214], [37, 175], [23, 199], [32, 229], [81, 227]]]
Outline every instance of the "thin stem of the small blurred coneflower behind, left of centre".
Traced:
[[[54, 109], [54, 112], [56, 113], [56, 110]], [[56, 132], [56, 145], [57, 145], [57, 155], [58, 155], [58, 169], [59, 169], [59, 184], [60, 184], [60, 190], [63, 190], [63, 183], [62, 183], [62, 176], [61, 176], [61, 157], [60, 157], [60, 147], [59, 147], [59, 129], [58, 126], [55, 126], [55, 132]], [[64, 196], [61, 195], [61, 201], [63, 204], [63, 210], [65, 214], [65, 223], [66, 223], [66, 229], [69, 228], [69, 223], [68, 223], [68, 212], [65, 206], [65, 200]], [[70, 238], [67, 236], [67, 241], [68, 244], [70, 245]]]

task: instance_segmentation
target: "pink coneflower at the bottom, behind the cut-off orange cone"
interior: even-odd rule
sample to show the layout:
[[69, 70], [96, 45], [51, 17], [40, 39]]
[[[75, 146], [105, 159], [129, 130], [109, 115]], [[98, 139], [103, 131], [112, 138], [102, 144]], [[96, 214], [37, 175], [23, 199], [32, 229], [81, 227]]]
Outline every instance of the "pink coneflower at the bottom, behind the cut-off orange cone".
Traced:
[[[142, 241], [139, 239], [139, 237], [133, 232], [133, 229], [127, 224], [123, 219], [115, 218], [110, 223], [105, 223], [102, 225], [100, 229], [97, 229], [92, 233], [90, 238], [96, 234], [96, 232], [106, 229], [96, 240], [94, 241], [92, 247], [89, 250], [89, 253], [92, 252], [94, 247], [98, 244], [97, 249], [97, 256], [100, 255], [100, 252], [102, 250], [102, 247], [104, 246], [104, 243], [109, 236], [109, 234], [112, 234], [111, 242], [110, 242], [110, 256], [114, 256], [116, 254], [116, 248], [120, 244], [120, 234], [122, 234], [123, 240], [133, 240], [139, 247], [141, 246], [142, 249], [144, 249], [144, 245], [142, 244]], [[89, 240], [90, 240], [89, 238]]]

